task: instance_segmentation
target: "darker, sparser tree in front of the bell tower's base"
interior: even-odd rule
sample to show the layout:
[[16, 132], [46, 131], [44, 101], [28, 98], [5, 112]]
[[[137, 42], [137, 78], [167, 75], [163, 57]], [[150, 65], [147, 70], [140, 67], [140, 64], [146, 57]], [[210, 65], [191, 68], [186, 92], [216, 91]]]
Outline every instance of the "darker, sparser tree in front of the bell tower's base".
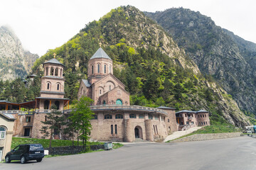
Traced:
[[[65, 125], [65, 116], [61, 111], [57, 110], [57, 106], [51, 106], [53, 111], [51, 113], [46, 113], [46, 121], [41, 121], [43, 123], [43, 127], [40, 130], [43, 133], [43, 137], [49, 137], [50, 135], [50, 144], [49, 149], [51, 148], [51, 141], [53, 140], [54, 132], [60, 133], [61, 126]], [[50, 132], [49, 132], [50, 131]]]

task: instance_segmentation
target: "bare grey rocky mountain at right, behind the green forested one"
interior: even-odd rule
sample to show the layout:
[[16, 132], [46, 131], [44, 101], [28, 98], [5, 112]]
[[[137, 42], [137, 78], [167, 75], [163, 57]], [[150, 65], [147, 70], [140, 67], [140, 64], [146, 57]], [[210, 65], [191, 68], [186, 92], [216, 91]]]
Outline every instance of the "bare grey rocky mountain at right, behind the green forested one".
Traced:
[[245, 113], [256, 114], [256, 45], [186, 8], [146, 13], [182, 47], [203, 74], [210, 74]]

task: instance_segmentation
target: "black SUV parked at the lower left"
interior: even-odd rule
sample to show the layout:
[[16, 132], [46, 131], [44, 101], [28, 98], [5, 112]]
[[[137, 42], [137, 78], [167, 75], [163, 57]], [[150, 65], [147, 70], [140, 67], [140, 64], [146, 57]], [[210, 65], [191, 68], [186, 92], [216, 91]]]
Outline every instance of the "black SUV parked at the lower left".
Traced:
[[21, 160], [21, 164], [30, 160], [41, 162], [44, 156], [44, 149], [41, 144], [25, 144], [18, 145], [11, 152], [8, 152], [5, 161], [9, 163], [12, 160]]

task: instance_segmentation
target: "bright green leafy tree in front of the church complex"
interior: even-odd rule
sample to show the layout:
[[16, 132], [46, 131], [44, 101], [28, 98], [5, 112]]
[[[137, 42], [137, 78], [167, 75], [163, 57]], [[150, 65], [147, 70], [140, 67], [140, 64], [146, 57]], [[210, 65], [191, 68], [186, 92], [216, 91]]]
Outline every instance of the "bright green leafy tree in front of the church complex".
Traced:
[[90, 104], [93, 102], [91, 98], [83, 96], [80, 101], [74, 101], [73, 110], [70, 113], [70, 120], [78, 131], [78, 140], [82, 140], [83, 148], [86, 148], [86, 142], [89, 140], [90, 130], [94, 113], [90, 110]]

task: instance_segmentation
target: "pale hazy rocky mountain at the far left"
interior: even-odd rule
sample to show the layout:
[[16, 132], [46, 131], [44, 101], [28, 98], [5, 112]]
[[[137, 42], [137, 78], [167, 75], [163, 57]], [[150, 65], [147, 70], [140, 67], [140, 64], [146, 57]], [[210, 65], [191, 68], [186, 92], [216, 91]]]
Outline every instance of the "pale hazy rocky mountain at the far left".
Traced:
[[24, 78], [31, 72], [38, 55], [23, 50], [21, 41], [5, 26], [0, 28], [0, 79]]

